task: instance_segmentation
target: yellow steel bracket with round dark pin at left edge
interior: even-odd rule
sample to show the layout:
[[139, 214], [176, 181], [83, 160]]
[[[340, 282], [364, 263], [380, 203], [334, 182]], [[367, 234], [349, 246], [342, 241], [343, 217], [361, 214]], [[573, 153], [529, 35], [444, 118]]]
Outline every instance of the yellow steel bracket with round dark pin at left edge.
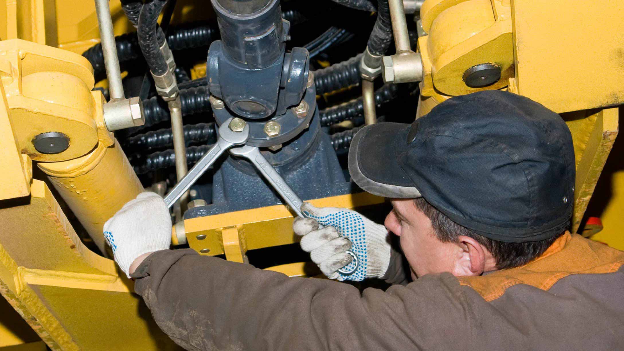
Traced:
[[[102, 94], [91, 92], [89, 61], [20, 39], [0, 42], [0, 55], [9, 118], [21, 153], [36, 161], [63, 161], [85, 155], [98, 142], [112, 145], [112, 133], [104, 127]], [[32, 140], [46, 132], [67, 135], [67, 150], [37, 151]]]

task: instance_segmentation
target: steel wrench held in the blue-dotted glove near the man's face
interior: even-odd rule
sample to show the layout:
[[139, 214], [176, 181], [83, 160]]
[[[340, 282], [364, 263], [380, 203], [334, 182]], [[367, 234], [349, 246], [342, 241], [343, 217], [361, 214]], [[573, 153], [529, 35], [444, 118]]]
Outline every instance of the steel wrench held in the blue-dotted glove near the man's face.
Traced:
[[[280, 194], [281, 198], [290, 206], [290, 208], [295, 211], [297, 216], [301, 218], [305, 218], [303, 213], [301, 213], [301, 205], [303, 201], [297, 196], [295, 191], [288, 186], [284, 178], [281, 178], [280, 173], [277, 173], [275, 168], [266, 160], [265, 156], [260, 153], [260, 149], [257, 147], [244, 146], [244, 147], [236, 147], [230, 149], [230, 154], [234, 156], [239, 156], [242, 158], [246, 158], [250, 160], [251, 163], [260, 171], [260, 173], [266, 178], [266, 180], [273, 186], [273, 189]], [[359, 266], [359, 259], [356, 254], [352, 251], [346, 251], [351, 257], [353, 257], [353, 262], [355, 263], [351, 269], [338, 269], [338, 272], [344, 275], [353, 274]]]

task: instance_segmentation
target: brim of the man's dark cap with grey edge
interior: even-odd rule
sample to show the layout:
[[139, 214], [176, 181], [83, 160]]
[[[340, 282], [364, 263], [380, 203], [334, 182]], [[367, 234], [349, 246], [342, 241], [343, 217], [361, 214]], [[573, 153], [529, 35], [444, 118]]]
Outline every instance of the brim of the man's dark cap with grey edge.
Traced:
[[356, 133], [349, 148], [349, 172], [360, 188], [384, 198], [422, 196], [402, 170], [397, 155], [407, 147], [409, 127], [409, 124], [385, 122], [368, 125]]

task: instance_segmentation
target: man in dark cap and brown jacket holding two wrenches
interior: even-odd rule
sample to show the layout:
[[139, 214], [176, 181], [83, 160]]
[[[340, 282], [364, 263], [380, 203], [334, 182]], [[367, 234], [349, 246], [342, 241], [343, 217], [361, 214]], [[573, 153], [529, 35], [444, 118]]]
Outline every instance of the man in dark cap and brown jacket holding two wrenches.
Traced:
[[[556, 113], [500, 91], [455, 97], [411, 125], [363, 128], [349, 170], [391, 199], [385, 228], [306, 204], [295, 232], [328, 277], [396, 284], [386, 291], [169, 250], [169, 214], [150, 193], [105, 233], [188, 350], [624, 349], [624, 252], [566, 231], [575, 159]], [[339, 271], [356, 264], [348, 250], [353, 274]]]

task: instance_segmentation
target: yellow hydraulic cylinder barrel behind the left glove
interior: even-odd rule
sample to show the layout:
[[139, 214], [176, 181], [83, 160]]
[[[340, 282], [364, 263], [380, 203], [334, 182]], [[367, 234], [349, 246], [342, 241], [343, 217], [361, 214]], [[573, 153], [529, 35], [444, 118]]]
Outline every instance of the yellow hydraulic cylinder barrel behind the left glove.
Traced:
[[54, 188], [106, 255], [104, 223], [143, 191], [117, 140], [110, 147], [98, 143], [93, 151], [74, 160], [39, 162], [37, 166], [49, 176]]

